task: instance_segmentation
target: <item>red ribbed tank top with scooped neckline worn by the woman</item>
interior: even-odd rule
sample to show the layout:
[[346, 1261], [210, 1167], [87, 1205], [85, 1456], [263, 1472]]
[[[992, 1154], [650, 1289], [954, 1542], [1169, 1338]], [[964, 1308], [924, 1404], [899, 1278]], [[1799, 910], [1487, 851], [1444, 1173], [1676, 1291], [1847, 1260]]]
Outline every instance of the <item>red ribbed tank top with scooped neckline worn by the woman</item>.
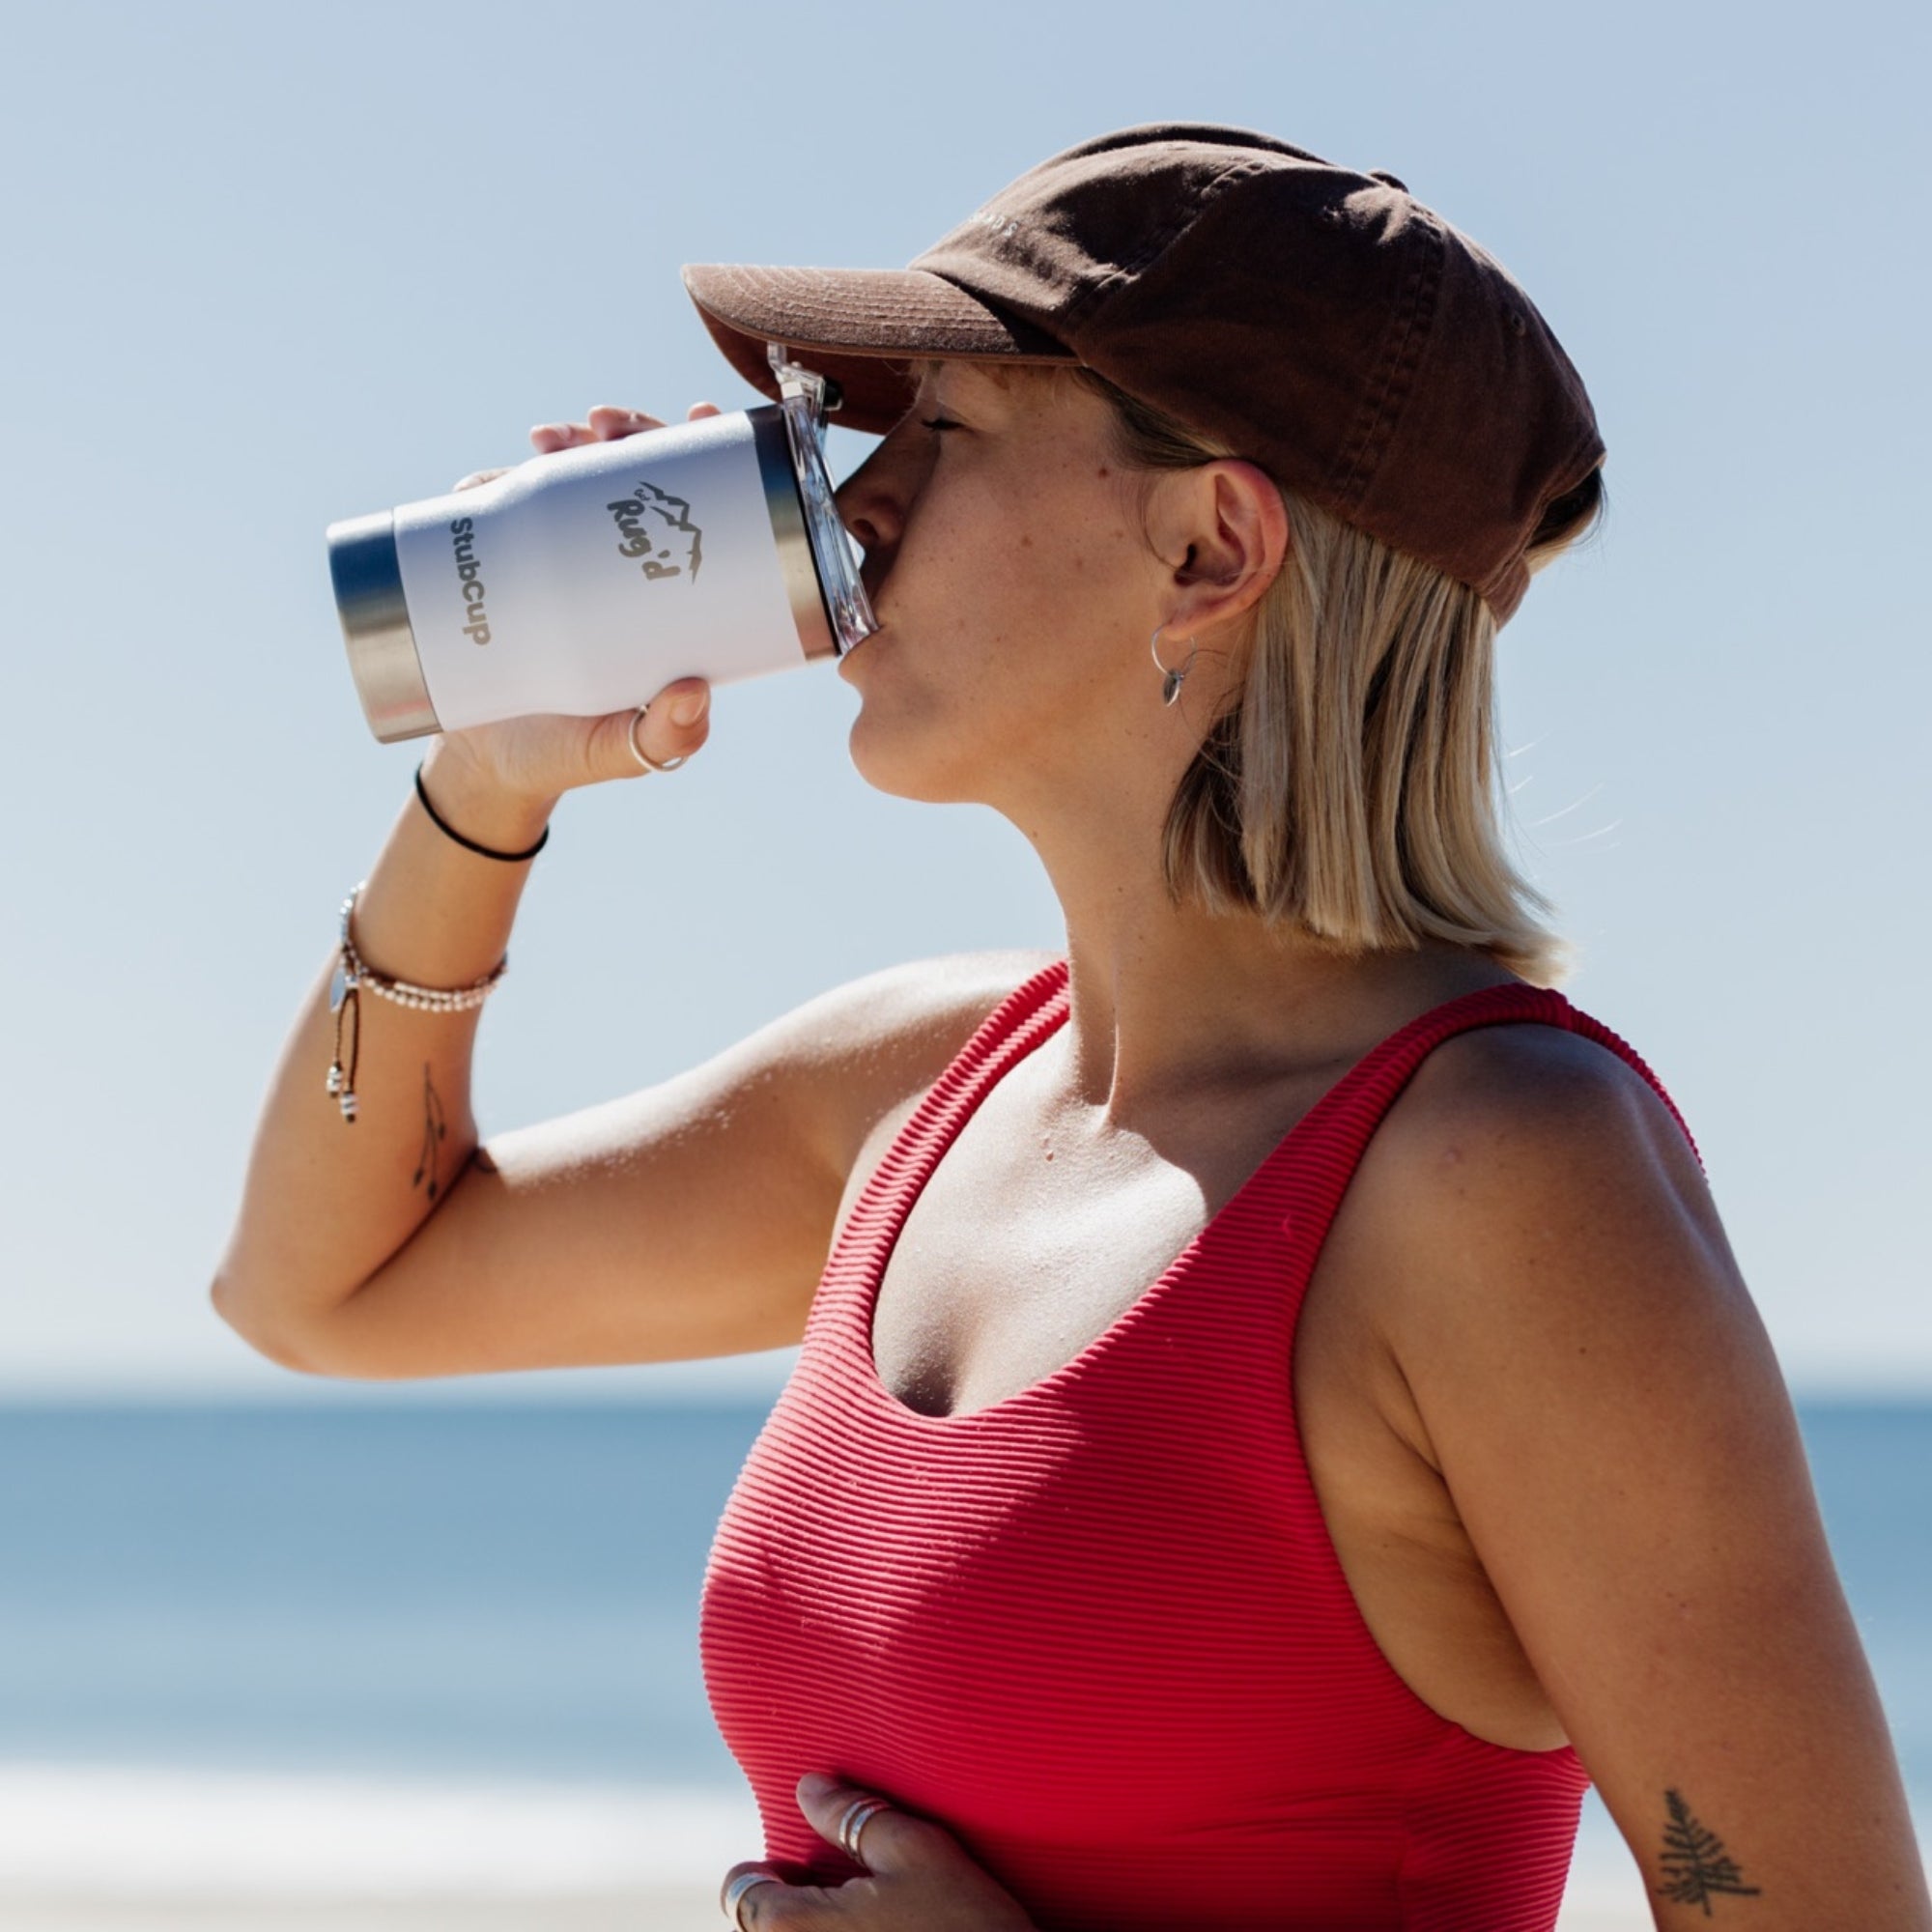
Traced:
[[[954, 1833], [1041, 1932], [1548, 1932], [1588, 1783], [1430, 1710], [1362, 1623], [1302, 1461], [1302, 1294], [1370, 1136], [1441, 1041], [1538, 1022], [1493, 987], [1347, 1072], [1082, 1352], [987, 1408], [881, 1383], [893, 1242], [1066, 966], [974, 1034], [879, 1163], [705, 1577], [711, 1706], [794, 1884], [858, 1874], [794, 1785], [831, 1772]], [[1662, 1094], [1662, 1088], [1658, 1090]]]

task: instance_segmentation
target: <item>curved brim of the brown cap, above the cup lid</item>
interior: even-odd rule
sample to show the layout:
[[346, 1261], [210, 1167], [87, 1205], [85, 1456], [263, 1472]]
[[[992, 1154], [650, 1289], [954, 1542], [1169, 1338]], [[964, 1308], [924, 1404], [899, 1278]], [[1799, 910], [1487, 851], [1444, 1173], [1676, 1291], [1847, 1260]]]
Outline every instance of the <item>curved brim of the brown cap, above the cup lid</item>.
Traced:
[[684, 270], [684, 288], [753, 388], [779, 394], [765, 346], [782, 342], [844, 390], [838, 423], [885, 435], [912, 402], [908, 369], [933, 357], [1055, 363], [1074, 354], [923, 269]]

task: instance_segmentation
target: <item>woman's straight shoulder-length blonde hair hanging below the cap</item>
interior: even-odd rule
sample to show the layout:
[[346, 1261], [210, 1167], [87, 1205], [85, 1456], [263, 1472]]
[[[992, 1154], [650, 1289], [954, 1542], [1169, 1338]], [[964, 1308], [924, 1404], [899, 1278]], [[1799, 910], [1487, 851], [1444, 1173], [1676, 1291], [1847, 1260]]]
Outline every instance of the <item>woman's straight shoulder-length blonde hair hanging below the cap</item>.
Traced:
[[[1092, 369], [1043, 371], [1113, 404], [1132, 469], [1235, 456]], [[1495, 618], [1466, 583], [1293, 491], [1289, 554], [1248, 668], [1180, 779], [1161, 837], [1177, 902], [1258, 912], [1343, 952], [1472, 947], [1538, 985], [1563, 943], [1503, 842]], [[1549, 504], [1530, 570], [1604, 508], [1592, 471]]]

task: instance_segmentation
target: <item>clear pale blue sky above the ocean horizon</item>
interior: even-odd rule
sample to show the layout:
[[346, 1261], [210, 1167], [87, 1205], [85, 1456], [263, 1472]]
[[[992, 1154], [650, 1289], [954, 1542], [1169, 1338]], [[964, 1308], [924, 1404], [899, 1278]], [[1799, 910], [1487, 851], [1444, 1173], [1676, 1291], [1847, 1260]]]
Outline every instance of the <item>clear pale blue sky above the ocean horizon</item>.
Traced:
[[[0, 1387], [288, 1381], [207, 1279], [415, 761], [363, 728], [323, 527], [593, 402], [744, 402], [684, 261], [898, 265], [1059, 147], [1200, 118], [1391, 168], [1582, 369], [1609, 531], [1503, 634], [1573, 997], [1689, 1113], [1793, 1379], [1932, 1389], [1928, 41], [1859, 0], [14, 23]], [[730, 690], [674, 782], [564, 804], [485, 1130], [895, 958], [1055, 943], [1003, 823], [852, 775], [852, 701]]]

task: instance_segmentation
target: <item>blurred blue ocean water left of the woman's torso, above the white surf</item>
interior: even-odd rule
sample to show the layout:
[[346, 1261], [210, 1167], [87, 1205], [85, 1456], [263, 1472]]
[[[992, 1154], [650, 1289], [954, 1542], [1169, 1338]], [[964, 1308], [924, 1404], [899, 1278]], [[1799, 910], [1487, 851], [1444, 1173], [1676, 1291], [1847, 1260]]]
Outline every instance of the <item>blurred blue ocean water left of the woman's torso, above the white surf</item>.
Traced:
[[0, 1408], [0, 1760], [730, 1783], [759, 1408]]

